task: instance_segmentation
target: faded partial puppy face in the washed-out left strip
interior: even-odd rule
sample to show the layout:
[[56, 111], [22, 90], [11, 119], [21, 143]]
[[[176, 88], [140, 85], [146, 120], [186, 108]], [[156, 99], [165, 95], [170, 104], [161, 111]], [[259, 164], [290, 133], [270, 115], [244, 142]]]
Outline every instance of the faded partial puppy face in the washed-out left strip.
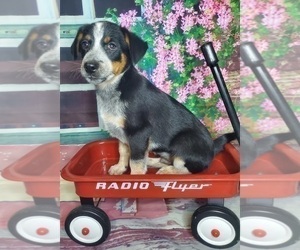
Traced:
[[45, 82], [59, 84], [59, 25], [44, 24], [30, 30], [18, 47], [24, 60], [37, 59], [34, 73]]

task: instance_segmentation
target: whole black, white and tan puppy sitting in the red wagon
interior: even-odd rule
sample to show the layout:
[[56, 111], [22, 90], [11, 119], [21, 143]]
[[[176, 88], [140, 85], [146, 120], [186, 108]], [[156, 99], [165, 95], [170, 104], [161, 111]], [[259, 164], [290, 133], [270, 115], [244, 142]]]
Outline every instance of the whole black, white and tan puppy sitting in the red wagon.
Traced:
[[[119, 139], [119, 162], [109, 174], [145, 174], [147, 163], [158, 174], [198, 173], [208, 167], [225, 143], [212, 140], [206, 127], [182, 104], [156, 88], [134, 65], [148, 46], [135, 34], [110, 22], [82, 26], [71, 46], [83, 58], [81, 74], [96, 86], [105, 129]], [[147, 162], [148, 152], [161, 157]]]

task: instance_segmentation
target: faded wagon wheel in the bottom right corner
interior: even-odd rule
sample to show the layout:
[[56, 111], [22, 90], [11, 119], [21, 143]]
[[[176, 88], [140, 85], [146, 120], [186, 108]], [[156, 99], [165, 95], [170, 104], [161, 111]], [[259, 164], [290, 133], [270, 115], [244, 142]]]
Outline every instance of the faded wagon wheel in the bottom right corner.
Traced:
[[299, 220], [277, 207], [241, 207], [241, 244], [255, 248], [279, 248], [299, 240]]

